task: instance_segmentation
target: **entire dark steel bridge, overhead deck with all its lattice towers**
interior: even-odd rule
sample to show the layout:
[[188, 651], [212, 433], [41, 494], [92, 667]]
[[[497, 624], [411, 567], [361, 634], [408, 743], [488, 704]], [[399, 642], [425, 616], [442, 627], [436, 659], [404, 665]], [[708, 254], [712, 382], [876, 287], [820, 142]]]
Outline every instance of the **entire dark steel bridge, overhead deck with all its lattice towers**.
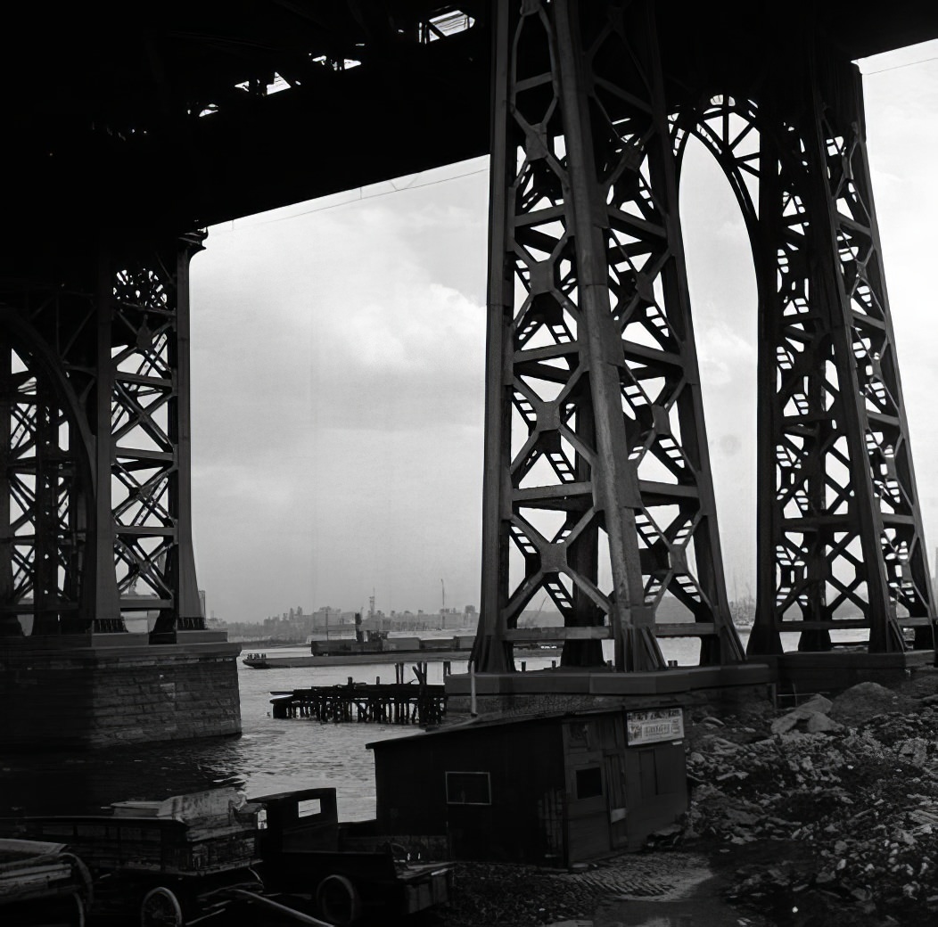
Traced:
[[[898, 2], [96, 5], [0, 67], [0, 636], [203, 642], [191, 544], [197, 230], [490, 153], [479, 671], [745, 659], [729, 615], [677, 210], [696, 137], [759, 279], [749, 653], [933, 649], [934, 607], [851, 60]], [[80, 19], [68, 22], [68, 17]], [[535, 595], [564, 627], [518, 627]], [[668, 597], [685, 621], [662, 620]], [[833, 636], [832, 636], [833, 635]], [[610, 651], [603, 650], [603, 641]], [[218, 642], [220, 644], [220, 642]], [[168, 651], [167, 651], [168, 652]]]

